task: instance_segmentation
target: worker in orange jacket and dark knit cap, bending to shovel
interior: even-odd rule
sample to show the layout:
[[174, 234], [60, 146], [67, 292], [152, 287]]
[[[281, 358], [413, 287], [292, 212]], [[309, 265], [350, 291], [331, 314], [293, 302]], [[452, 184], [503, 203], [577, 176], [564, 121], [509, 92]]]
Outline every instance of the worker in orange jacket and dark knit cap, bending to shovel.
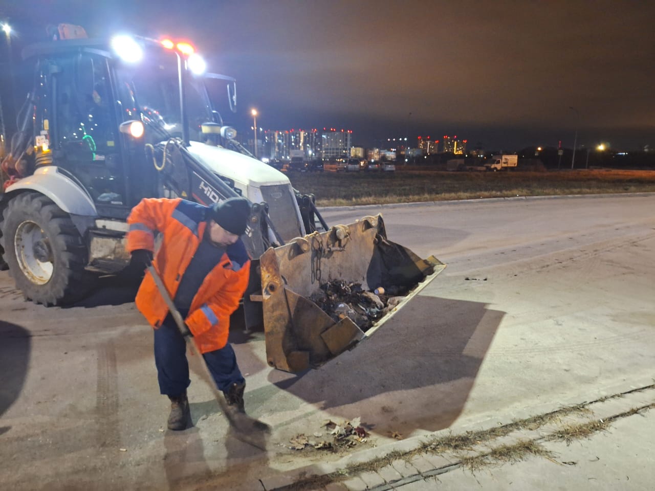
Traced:
[[[245, 198], [229, 198], [210, 207], [181, 198], [145, 198], [127, 219], [127, 250], [132, 262], [143, 268], [153, 259], [155, 232], [162, 234], [153, 265], [185, 319], [185, 336], [193, 336], [227, 404], [238, 412], [244, 412], [246, 381], [227, 336], [230, 314], [248, 285], [250, 257], [240, 236], [249, 215]], [[155, 328], [159, 388], [171, 401], [168, 428], [186, 429], [191, 380], [184, 336], [149, 272], [135, 301]]]

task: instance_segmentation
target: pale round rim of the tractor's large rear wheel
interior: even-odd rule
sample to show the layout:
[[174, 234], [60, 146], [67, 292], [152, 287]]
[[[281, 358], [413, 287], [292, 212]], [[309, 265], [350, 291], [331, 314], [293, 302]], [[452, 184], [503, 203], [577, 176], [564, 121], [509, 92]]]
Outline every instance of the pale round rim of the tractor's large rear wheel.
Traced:
[[37, 223], [24, 221], [14, 236], [16, 261], [23, 274], [37, 285], [45, 285], [52, 278], [54, 264], [50, 240]]

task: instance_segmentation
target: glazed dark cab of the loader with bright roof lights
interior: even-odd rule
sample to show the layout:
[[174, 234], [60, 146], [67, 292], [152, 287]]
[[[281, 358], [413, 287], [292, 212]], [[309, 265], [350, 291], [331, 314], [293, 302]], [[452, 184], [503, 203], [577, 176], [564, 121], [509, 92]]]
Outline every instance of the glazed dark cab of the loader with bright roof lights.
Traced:
[[[159, 193], [155, 145], [170, 139], [188, 145], [207, 139], [203, 125], [221, 128], [202, 78], [180, 69], [193, 58], [140, 41], [61, 39], [25, 52], [36, 67], [25, 109], [33, 107], [34, 117], [21, 128], [26, 152], [34, 152], [26, 174], [56, 166], [83, 187], [101, 216], [124, 218], [141, 198]], [[130, 122], [141, 124], [142, 137], [123, 131]]]

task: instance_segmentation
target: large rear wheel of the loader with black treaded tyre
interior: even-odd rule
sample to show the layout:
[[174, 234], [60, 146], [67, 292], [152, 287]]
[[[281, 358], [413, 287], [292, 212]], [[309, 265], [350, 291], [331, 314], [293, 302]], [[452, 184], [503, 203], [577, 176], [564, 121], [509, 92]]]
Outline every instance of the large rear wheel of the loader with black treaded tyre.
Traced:
[[43, 194], [25, 192], [9, 202], [0, 242], [28, 300], [49, 306], [84, 296], [86, 247], [68, 213]]

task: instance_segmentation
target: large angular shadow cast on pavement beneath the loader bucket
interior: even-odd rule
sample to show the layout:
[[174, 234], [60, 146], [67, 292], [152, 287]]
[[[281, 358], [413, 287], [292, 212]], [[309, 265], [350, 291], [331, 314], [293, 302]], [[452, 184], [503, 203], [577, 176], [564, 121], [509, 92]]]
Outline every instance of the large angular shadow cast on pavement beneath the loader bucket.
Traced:
[[503, 315], [418, 296], [354, 350], [300, 376], [271, 371], [269, 381], [381, 433], [436, 431], [462, 412]]

